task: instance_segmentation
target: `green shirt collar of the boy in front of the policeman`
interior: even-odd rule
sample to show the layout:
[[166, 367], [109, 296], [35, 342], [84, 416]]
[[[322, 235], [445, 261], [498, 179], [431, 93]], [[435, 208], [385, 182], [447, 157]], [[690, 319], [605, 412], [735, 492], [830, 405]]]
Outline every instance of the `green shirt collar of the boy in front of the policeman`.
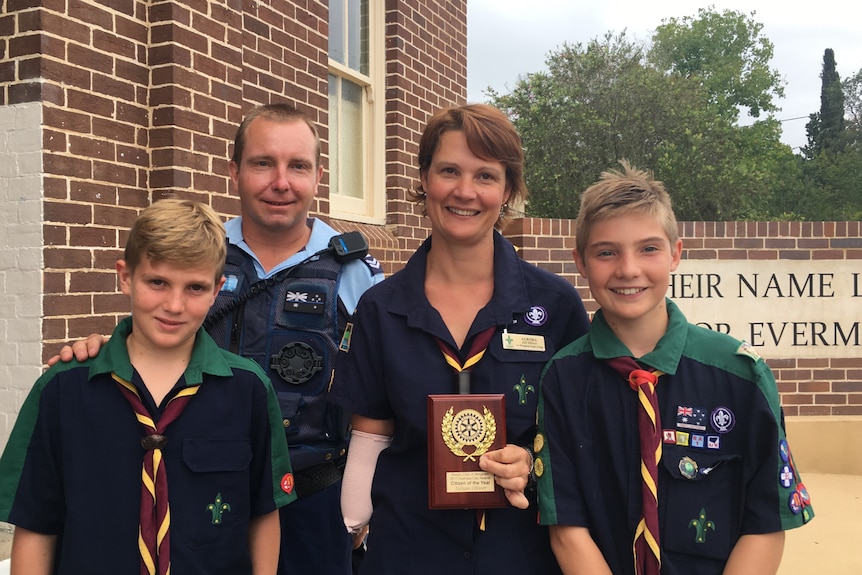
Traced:
[[[99, 355], [91, 360], [88, 379], [92, 380], [101, 374], [116, 373], [126, 381], [132, 381], [134, 368], [129, 360], [129, 351], [126, 349], [126, 338], [130, 333], [132, 333], [131, 316], [117, 324], [111, 339], [102, 347]], [[186, 385], [202, 383], [205, 373], [216, 376], [232, 375], [233, 371], [223, 354], [222, 349], [216, 345], [209, 334], [203, 328], [199, 328], [195, 334], [192, 356], [184, 373]]]

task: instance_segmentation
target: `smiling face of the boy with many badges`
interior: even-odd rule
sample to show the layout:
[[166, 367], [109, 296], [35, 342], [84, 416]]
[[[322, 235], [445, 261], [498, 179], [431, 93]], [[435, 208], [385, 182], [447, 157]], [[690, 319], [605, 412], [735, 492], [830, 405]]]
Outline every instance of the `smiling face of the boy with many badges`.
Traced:
[[578, 271], [602, 307], [608, 325], [667, 327], [665, 294], [682, 255], [682, 240], [667, 237], [653, 215], [628, 212], [593, 222], [583, 248], [574, 251]]

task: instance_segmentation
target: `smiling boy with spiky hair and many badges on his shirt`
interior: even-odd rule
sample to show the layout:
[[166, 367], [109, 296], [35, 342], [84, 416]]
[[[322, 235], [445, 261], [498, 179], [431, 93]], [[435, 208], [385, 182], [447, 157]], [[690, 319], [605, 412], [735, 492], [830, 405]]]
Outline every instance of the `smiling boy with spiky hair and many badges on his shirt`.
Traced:
[[670, 198], [621, 163], [581, 199], [574, 259], [600, 309], [542, 378], [541, 522], [567, 574], [774, 574], [784, 530], [814, 516], [775, 380], [665, 297]]

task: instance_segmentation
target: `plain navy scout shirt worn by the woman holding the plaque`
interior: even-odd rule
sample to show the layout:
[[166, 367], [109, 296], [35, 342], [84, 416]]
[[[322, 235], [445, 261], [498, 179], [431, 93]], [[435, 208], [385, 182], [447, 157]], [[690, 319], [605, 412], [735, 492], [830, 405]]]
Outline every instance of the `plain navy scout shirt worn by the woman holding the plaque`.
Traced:
[[[434, 336], [456, 346], [425, 297], [430, 242], [362, 296], [350, 351], [339, 354], [330, 395], [353, 413], [395, 421], [392, 445], [374, 474], [372, 539], [361, 572], [558, 573], [547, 530], [537, 525], [535, 500], [528, 510], [488, 510], [484, 532], [475, 510], [428, 509], [427, 396], [458, 392], [455, 371]], [[505, 394], [508, 443], [530, 446], [541, 370], [555, 351], [586, 332], [588, 320], [571, 284], [521, 260], [498, 233], [494, 282], [493, 298], [465, 342], [467, 349], [473, 336], [497, 326], [472, 370], [472, 392]], [[545, 351], [503, 349], [504, 330], [541, 335]]]

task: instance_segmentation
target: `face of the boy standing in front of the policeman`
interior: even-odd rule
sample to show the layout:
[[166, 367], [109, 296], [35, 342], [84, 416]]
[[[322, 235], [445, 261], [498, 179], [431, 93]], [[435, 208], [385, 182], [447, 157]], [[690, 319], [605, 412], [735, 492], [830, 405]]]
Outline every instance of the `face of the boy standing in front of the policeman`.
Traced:
[[132, 270], [117, 262], [121, 291], [129, 296], [134, 327], [129, 344], [138, 349], [187, 350], [215, 302], [224, 278], [215, 281], [212, 265], [153, 263], [146, 256]]

